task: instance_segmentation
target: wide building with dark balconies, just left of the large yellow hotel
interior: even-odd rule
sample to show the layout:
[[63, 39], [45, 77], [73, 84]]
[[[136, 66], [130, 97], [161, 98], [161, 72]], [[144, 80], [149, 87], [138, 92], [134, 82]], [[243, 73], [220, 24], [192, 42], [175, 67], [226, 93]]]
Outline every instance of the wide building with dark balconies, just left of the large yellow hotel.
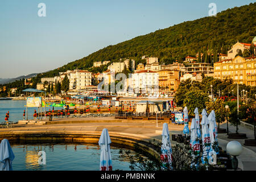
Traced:
[[188, 63], [185, 64], [184, 67], [180, 68], [181, 71], [184, 73], [204, 73], [209, 74], [214, 72], [214, 68], [212, 67], [212, 64], [209, 63]]

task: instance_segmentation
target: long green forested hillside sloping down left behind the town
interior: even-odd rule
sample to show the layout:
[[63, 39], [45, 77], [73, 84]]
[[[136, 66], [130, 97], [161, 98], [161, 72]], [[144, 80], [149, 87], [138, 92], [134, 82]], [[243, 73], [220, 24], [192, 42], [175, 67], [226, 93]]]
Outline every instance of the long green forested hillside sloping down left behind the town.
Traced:
[[[52, 77], [58, 72], [68, 69], [88, 69], [94, 61], [117, 61], [120, 58], [133, 58], [137, 63], [141, 56], [159, 57], [161, 63], [171, 63], [173, 60], [184, 60], [187, 55], [197, 52], [221, 52], [222, 45], [228, 49], [237, 40], [251, 43], [256, 35], [256, 3], [241, 7], [234, 7], [193, 21], [183, 22], [174, 26], [138, 36], [131, 40], [108, 46], [57, 68], [43, 73], [39, 77]], [[81, 40], [82, 41], [82, 40]], [[105, 70], [102, 68], [89, 69], [93, 72]]]

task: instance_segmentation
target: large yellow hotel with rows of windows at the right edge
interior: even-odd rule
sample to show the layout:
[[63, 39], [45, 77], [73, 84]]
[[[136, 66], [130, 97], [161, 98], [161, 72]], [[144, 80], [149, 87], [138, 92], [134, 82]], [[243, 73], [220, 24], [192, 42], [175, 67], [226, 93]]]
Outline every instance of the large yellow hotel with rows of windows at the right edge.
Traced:
[[256, 56], [237, 56], [214, 63], [214, 78], [232, 78], [235, 83], [256, 86]]

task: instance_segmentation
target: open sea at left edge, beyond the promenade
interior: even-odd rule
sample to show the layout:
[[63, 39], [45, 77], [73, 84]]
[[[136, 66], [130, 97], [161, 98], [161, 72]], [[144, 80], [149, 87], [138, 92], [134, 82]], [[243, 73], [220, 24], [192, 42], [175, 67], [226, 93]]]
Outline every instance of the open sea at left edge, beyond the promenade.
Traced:
[[[0, 122], [5, 121], [5, 115], [8, 111], [10, 113], [9, 121], [17, 122], [19, 120], [23, 120], [23, 111], [26, 111], [26, 107], [24, 107], [24, 105], [26, 105], [26, 101], [0, 101]], [[28, 107], [28, 119], [33, 119], [35, 109], [38, 113], [38, 107]], [[52, 107], [46, 107], [46, 111], [49, 109], [52, 110]], [[61, 109], [61, 107], [55, 107], [54, 109]]]

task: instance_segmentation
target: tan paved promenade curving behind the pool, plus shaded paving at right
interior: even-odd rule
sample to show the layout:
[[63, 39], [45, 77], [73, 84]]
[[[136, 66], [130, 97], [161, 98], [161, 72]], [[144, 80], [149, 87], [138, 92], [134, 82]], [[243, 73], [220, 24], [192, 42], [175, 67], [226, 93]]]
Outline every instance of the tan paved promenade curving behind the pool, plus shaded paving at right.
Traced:
[[[156, 121], [128, 120], [108, 118], [65, 118], [53, 119], [51, 125], [22, 125], [15, 124], [13, 128], [0, 129], [2, 133], [68, 133], [68, 132], [98, 132], [106, 128], [109, 132], [134, 135], [136, 138], [150, 138], [158, 141], [162, 140], [163, 123], [168, 123], [170, 135], [182, 134], [184, 125], [174, 125], [168, 121], [159, 121], [156, 127]], [[190, 125], [190, 123], [189, 123]], [[221, 128], [226, 128], [226, 123], [223, 123]], [[189, 126], [190, 128], [190, 126]], [[246, 133], [247, 138], [253, 139], [253, 130], [238, 126], [240, 133]], [[234, 133], [236, 128], [229, 125], [229, 132]], [[111, 135], [110, 135], [111, 137]], [[243, 151], [238, 156], [238, 167], [242, 170], [256, 171], [256, 147], [244, 146], [244, 139], [228, 139], [226, 134], [218, 134], [218, 143], [223, 150], [226, 150], [226, 144], [231, 140], [237, 140], [243, 146]], [[174, 141], [172, 141], [174, 143]]]

